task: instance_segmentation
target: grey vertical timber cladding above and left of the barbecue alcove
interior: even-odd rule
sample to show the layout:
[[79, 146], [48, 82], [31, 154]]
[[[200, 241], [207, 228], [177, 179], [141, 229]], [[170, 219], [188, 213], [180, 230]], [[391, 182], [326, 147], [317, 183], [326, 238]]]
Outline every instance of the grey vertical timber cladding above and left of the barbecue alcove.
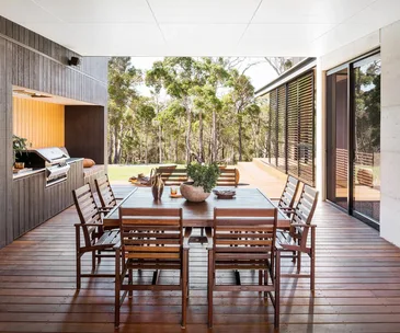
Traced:
[[14, 240], [12, 84], [106, 105], [107, 60], [82, 58], [75, 69], [71, 56], [79, 55], [0, 16], [0, 248]]

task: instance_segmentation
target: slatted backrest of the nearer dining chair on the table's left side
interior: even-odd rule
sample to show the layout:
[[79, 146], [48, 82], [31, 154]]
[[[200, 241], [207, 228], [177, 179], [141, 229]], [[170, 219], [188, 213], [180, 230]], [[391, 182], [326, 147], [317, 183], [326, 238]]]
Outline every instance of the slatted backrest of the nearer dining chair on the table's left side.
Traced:
[[[84, 226], [85, 223], [94, 223], [99, 225], [99, 232], [103, 231], [103, 221], [102, 216], [99, 211], [98, 204], [93, 197], [93, 193], [90, 188], [90, 185], [83, 185], [75, 191], [72, 191], [72, 197], [75, 206], [77, 207], [77, 211], [79, 215], [80, 222]], [[92, 242], [92, 233], [95, 231], [96, 227], [87, 227], [82, 228], [84, 243], [87, 246], [91, 245]]]

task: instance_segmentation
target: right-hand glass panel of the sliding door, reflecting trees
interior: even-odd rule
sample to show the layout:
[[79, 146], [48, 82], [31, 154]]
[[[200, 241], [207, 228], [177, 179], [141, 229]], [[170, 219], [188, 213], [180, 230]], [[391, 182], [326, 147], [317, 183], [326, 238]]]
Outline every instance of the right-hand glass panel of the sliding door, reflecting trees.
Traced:
[[380, 57], [354, 66], [353, 209], [379, 221], [380, 206]]

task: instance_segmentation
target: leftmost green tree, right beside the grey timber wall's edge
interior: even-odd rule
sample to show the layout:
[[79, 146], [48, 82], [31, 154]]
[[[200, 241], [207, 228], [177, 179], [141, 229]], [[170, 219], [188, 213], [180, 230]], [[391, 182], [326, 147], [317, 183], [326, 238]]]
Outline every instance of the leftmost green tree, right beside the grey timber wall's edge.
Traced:
[[127, 107], [138, 97], [135, 87], [141, 82], [141, 72], [130, 64], [129, 57], [112, 57], [108, 61], [108, 125], [110, 162], [121, 162], [124, 117]]

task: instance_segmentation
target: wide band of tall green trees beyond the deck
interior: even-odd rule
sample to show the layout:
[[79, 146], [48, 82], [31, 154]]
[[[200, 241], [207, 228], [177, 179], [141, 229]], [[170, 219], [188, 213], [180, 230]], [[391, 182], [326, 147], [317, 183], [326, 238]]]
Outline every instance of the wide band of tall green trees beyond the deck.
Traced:
[[[236, 163], [266, 153], [267, 107], [250, 79], [222, 57], [165, 57], [146, 72], [111, 58], [111, 163]], [[151, 96], [140, 96], [146, 83]], [[167, 95], [167, 97], [163, 97]]]

